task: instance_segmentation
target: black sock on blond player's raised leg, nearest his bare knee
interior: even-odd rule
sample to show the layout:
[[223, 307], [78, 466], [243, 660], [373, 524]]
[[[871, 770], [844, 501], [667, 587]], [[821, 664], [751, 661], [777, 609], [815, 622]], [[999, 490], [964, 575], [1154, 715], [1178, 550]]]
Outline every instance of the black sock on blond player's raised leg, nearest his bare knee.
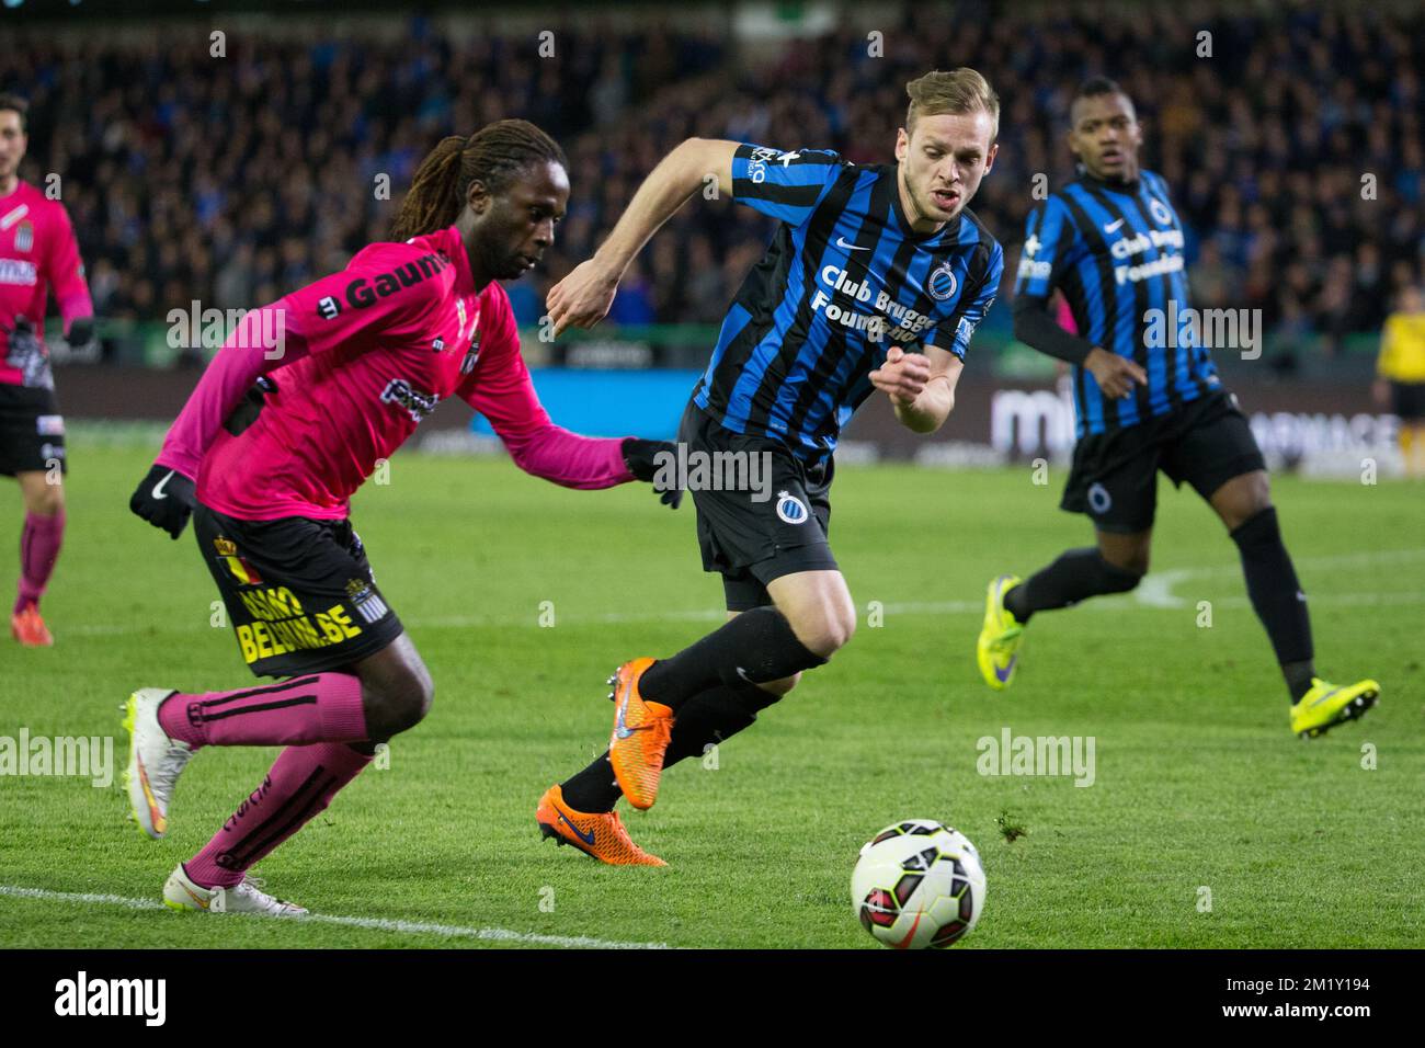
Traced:
[[677, 710], [718, 683], [761, 684], [825, 662], [797, 639], [787, 616], [775, 607], [754, 607], [671, 659], [656, 662], [644, 670], [638, 693]]

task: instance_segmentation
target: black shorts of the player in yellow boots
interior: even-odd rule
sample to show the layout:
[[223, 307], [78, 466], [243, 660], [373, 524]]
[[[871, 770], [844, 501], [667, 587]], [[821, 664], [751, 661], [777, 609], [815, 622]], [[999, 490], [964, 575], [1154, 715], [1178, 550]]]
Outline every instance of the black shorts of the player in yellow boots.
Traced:
[[1087, 513], [1099, 530], [1131, 535], [1153, 526], [1159, 469], [1206, 499], [1234, 476], [1265, 468], [1237, 398], [1218, 389], [1136, 426], [1084, 436], [1059, 506]]

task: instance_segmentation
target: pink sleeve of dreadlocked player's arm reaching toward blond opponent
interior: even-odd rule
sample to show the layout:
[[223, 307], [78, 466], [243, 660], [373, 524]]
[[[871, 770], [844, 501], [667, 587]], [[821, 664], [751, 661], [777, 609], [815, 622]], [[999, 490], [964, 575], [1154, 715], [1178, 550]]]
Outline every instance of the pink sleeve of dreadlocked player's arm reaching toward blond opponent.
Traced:
[[587, 490], [631, 481], [621, 438], [580, 436], [550, 421], [520, 356], [514, 311], [503, 289], [484, 308], [494, 317], [480, 318], [480, 364], [459, 392], [490, 421], [514, 465], [564, 488]]

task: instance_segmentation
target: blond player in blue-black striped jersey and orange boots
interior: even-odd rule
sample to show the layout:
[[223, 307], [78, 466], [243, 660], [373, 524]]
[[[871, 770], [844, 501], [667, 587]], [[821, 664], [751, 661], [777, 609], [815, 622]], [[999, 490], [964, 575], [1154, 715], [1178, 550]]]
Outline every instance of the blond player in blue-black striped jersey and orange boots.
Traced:
[[604, 861], [661, 864], [623, 833], [620, 793], [650, 807], [665, 766], [751, 724], [851, 639], [856, 612], [826, 525], [832, 453], [856, 406], [881, 391], [902, 425], [928, 433], [955, 404], [965, 349], [1003, 272], [999, 244], [966, 208], [995, 163], [999, 100], [969, 68], [929, 73], [906, 91], [893, 164], [684, 141], [594, 257], [550, 291], [556, 331], [597, 324], [633, 257], [714, 180], [720, 195], [778, 221], [680, 431], [690, 462], [700, 452], [771, 462], [761, 492], [700, 490], [690, 473], [703, 565], [722, 576], [728, 620], [671, 657], [624, 663], [610, 682], [608, 753], [539, 806], [547, 836]]

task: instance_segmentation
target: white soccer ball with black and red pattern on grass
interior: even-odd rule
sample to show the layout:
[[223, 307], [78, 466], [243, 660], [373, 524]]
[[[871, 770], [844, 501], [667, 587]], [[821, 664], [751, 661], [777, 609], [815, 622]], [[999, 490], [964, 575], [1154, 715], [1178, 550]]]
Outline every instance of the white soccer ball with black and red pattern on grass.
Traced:
[[866, 931], [896, 950], [945, 950], [985, 908], [985, 868], [959, 830], [906, 818], [861, 847], [851, 905]]

